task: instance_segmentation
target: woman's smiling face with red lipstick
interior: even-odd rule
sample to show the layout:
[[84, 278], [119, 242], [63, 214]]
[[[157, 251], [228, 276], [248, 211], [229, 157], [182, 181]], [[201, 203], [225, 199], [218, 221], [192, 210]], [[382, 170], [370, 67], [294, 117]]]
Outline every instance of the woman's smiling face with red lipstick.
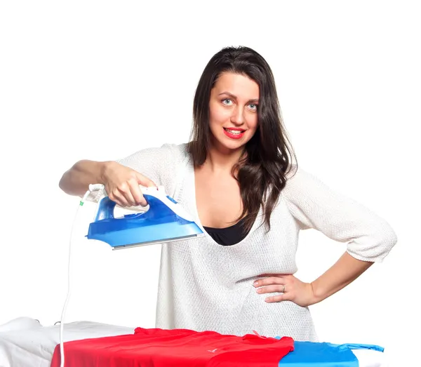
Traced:
[[210, 91], [213, 145], [227, 152], [243, 147], [258, 128], [259, 86], [248, 76], [224, 72]]

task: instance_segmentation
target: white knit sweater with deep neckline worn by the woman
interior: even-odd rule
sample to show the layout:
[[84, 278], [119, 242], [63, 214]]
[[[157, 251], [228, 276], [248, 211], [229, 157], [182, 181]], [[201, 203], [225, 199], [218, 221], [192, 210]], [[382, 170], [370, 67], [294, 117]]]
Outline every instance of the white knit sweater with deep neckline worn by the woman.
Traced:
[[[119, 163], [163, 185], [201, 226], [186, 144], [142, 149]], [[350, 255], [371, 262], [381, 262], [397, 241], [385, 220], [301, 168], [281, 192], [268, 233], [262, 220], [260, 211], [246, 238], [233, 246], [219, 245], [206, 231], [201, 239], [162, 244], [156, 327], [234, 335], [254, 330], [316, 341], [307, 307], [290, 301], [267, 303], [268, 294], [256, 293], [253, 281], [260, 274], [297, 271], [302, 229], [313, 228], [346, 243]]]

